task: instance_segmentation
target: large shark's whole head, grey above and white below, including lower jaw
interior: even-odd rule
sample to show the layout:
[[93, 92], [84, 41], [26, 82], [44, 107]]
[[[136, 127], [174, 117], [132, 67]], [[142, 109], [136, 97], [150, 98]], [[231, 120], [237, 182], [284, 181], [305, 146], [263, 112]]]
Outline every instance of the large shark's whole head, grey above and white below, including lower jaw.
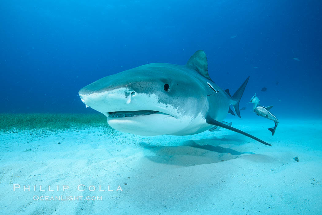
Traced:
[[[79, 91], [86, 107], [107, 117], [114, 129], [137, 135], [189, 132], [200, 120], [204, 86], [185, 66], [152, 63], [99, 79]], [[198, 123], [197, 123], [198, 124]]]

